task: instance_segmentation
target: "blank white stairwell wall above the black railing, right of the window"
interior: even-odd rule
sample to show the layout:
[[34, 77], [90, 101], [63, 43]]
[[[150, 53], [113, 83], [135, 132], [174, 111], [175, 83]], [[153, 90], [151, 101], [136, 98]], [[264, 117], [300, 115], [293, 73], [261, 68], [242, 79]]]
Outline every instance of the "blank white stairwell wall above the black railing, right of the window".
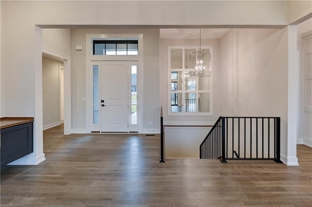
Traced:
[[287, 32], [233, 29], [220, 51], [222, 114], [281, 117], [281, 154], [287, 156]]

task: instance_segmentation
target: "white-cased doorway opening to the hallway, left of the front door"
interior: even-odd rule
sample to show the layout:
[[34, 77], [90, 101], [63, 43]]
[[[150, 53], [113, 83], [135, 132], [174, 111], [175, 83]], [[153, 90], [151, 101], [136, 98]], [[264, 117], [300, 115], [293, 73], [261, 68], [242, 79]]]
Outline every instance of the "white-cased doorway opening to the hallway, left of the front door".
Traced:
[[[44, 68], [44, 61], [48, 67], [57, 67]], [[43, 130], [63, 123], [64, 134], [71, 133], [70, 100], [70, 58], [42, 49]]]

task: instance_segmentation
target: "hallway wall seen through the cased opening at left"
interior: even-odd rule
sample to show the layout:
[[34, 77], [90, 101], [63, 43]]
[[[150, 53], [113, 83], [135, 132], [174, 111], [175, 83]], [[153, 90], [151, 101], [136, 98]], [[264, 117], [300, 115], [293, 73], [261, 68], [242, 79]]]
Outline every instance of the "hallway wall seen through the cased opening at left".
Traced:
[[63, 67], [63, 63], [47, 57], [42, 57], [42, 108], [44, 130], [60, 124], [59, 66]]

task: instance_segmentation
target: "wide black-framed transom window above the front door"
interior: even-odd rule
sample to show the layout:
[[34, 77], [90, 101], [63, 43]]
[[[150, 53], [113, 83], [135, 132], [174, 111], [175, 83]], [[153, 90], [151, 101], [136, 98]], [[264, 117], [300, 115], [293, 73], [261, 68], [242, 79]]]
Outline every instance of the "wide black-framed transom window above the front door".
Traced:
[[138, 55], [138, 39], [93, 40], [93, 55], [131, 56]]

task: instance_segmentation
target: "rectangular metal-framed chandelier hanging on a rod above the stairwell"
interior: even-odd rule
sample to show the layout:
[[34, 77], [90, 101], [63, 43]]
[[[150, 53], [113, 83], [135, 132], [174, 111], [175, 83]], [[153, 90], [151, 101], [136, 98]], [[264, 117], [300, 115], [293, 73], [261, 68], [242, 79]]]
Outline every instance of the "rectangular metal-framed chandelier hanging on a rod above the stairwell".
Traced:
[[199, 50], [190, 52], [189, 74], [187, 76], [205, 77], [210, 76], [210, 72], [210, 51], [201, 49], [201, 29], [199, 28]]

